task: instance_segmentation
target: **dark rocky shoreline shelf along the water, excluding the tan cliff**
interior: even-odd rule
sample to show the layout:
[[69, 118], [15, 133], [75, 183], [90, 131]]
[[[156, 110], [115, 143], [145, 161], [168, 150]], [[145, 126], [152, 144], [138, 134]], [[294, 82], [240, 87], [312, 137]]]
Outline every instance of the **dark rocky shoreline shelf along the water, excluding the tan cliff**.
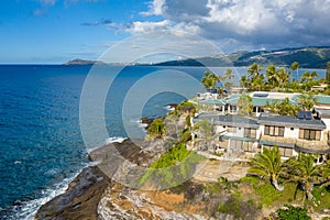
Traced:
[[[154, 154], [143, 154], [143, 148], [134, 144], [136, 142], [142, 145], [148, 144], [142, 140], [131, 141], [130, 139], [125, 139], [121, 143], [111, 142], [90, 152], [90, 166], [82, 168], [68, 184], [67, 189], [63, 194], [55, 196], [42, 205], [35, 213], [35, 219], [53, 219], [55, 217], [64, 219], [81, 219], [87, 217], [89, 219], [97, 219], [97, 208], [100, 198], [105, 189], [114, 183], [111, 177], [113, 177], [119, 166], [123, 163], [118, 157], [118, 152], [121, 157], [138, 163], [139, 161], [145, 162], [147, 157], [152, 158], [154, 154], [158, 154], [155, 151], [153, 152]], [[118, 152], [113, 152], [113, 150]], [[107, 160], [110, 160], [111, 163], [108, 164]], [[105, 166], [107, 166], [107, 169]], [[111, 167], [109, 168], [109, 166]]]

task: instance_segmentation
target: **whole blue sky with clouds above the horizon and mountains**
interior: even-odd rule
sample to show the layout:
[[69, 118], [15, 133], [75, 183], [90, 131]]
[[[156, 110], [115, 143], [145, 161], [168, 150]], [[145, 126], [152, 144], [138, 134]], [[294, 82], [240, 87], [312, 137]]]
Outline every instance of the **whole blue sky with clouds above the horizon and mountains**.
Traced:
[[164, 45], [177, 58], [330, 46], [329, 11], [330, 0], [3, 0], [0, 64], [98, 59], [116, 45], [113, 62], [169, 59]]

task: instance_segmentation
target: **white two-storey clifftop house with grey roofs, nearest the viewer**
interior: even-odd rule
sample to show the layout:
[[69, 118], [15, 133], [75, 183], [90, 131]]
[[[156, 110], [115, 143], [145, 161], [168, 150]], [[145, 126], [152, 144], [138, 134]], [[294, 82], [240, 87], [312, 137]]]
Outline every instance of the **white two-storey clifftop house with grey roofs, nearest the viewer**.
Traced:
[[[298, 117], [261, 113], [249, 118], [202, 113], [193, 119], [193, 124], [204, 119], [211, 123], [212, 136], [216, 136], [210, 151], [254, 155], [265, 147], [278, 146], [283, 158], [302, 152], [319, 154], [319, 161], [330, 154], [329, 127], [314, 119], [311, 112], [301, 111]], [[194, 138], [198, 138], [198, 133], [194, 133]]]

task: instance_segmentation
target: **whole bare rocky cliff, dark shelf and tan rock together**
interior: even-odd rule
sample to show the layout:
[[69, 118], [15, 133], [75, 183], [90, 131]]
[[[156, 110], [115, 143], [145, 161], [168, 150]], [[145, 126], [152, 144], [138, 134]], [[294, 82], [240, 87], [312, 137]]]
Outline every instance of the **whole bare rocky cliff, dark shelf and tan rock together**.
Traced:
[[[89, 156], [99, 162], [98, 166], [84, 168], [65, 194], [38, 209], [35, 219], [209, 219], [215, 216], [219, 204], [228, 200], [229, 195], [210, 195], [202, 183], [194, 179], [164, 190], [140, 189], [125, 183], [139, 175], [134, 167], [147, 167], [164, 154], [163, 144], [161, 140], [125, 140], [91, 152]], [[252, 212], [250, 219], [256, 216]], [[232, 219], [230, 215], [218, 213], [217, 218], [220, 217]]]

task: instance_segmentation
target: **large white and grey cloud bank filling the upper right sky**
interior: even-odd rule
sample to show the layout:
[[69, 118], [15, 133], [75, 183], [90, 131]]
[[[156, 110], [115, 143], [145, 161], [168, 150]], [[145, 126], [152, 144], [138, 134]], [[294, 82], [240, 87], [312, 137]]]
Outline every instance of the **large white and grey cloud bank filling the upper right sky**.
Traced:
[[184, 30], [229, 50], [330, 45], [330, 0], [154, 0], [148, 7], [143, 15], [164, 21], [133, 22], [130, 33]]

